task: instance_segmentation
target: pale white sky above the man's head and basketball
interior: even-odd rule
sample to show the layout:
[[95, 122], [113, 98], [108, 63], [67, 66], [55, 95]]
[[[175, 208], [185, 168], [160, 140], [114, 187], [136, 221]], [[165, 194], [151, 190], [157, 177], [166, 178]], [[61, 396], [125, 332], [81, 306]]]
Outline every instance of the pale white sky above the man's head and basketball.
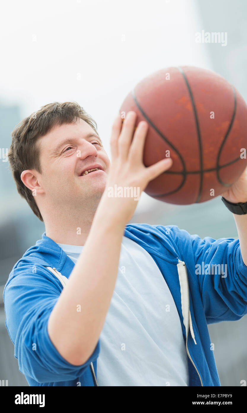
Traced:
[[[5, 2], [0, 101], [18, 104], [21, 118], [49, 102], [78, 102], [111, 158], [113, 120], [141, 79], [169, 66], [212, 69], [195, 43], [202, 28], [193, 0]], [[138, 208], [148, 202], [158, 201], [142, 195]]]

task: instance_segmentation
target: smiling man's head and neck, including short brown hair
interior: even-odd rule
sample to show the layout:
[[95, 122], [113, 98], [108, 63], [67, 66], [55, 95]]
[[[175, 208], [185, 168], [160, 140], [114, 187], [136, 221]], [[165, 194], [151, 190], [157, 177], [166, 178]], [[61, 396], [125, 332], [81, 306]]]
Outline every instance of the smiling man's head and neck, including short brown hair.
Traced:
[[[26, 146], [26, 153], [30, 156], [33, 152], [33, 157], [31, 164], [28, 164], [29, 159], [23, 159], [21, 174], [16, 171], [19, 174], [19, 192], [24, 190], [26, 196], [29, 192], [33, 193], [32, 209], [39, 218], [42, 211], [48, 237], [55, 242], [84, 245], [106, 186], [109, 158], [96, 131], [96, 124], [78, 105], [57, 107], [56, 103], [48, 104], [35, 116], [29, 119], [29, 140], [22, 142], [20, 136], [20, 150], [24, 151]], [[75, 116], [82, 117], [75, 122]], [[59, 124], [59, 121], [63, 123]], [[45, 135], [40, 136], [40, 131]], [[19, 126], [14, 133], [15, 142], [21, 132]], [[17, 153], [12, 152], [12, 148], [9, 152], [9, 161], [16, 168], [13, 157]], [[98, 171], [85, 176], [91, 169]], [[82, 230], [79, 236], [74, 230], [75, 225]]]

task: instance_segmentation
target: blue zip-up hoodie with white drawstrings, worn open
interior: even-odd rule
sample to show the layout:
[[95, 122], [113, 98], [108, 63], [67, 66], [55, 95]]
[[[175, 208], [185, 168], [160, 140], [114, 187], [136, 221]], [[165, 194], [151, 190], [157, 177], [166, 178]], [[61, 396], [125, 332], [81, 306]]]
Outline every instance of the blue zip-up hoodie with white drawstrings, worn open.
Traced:
[[[153, 257], [172, 293], [188, 355], [189, 385], [220, 386], [207, 324], [239, 320], [247, 313], [247, 266], [239, 240], [201, 239], [176, 225], [130, 224], [124, 235]], [[219, 271], [219, 264], [227, 272]], [[9, 274], [3, 293], [5, 324], [30, 386], [97, 386], [100, 338], [87, 362], [74, 366], [47, 332], [63, 280], [74, 265], [43, 233]]]

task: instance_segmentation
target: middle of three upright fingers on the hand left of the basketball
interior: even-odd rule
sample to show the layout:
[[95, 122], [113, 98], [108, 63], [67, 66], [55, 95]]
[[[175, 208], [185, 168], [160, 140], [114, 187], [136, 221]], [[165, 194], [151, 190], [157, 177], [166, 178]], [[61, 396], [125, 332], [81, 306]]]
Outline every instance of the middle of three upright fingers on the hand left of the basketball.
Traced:
[[136, 113], [133, 111], [128, 112], [118, 139], [118, 154], [122, 160], [126, 160], [128, 157], [135, 123]]

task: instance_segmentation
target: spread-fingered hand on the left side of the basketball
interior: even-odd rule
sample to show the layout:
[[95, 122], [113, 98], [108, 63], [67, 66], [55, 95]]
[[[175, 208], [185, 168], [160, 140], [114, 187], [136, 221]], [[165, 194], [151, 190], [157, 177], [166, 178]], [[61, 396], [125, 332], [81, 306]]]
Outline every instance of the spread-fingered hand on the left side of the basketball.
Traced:
[[[125, 224], [132, 218], [136, 209], [134, 197], [108, 197], [109, 188], [139, 188], [139, 193], [146, 188], [148, 182], [165, 172], [172, 166], [172, 159], [166, 158], [152, 166], [144, 166], [143, 149], [148, 132], [148, 123], [139, 122], [136, 130], [136, 113], [128, 112], [122, 125], [118, 115], [113, 123], [111, 135], [111, 168], [106, 183], [106, 190], [101, 199], [101, 205], [107, 203], [111, 217]], [[134, 133], [134, 136], [133, 136]], [[133, 138], [133, 140], [132, 140]]]

